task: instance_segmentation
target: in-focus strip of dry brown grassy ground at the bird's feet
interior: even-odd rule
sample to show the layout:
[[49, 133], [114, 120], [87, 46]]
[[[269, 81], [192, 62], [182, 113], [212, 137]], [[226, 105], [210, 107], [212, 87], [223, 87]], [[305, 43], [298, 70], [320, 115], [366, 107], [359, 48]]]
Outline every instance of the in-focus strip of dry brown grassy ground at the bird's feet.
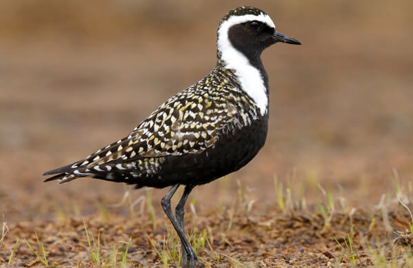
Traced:
[[[349, 210], [339, 201], [343, 196], [332, 196], [336, 209], [327, 209], [328, 216], [315, 205], [284, 212], [276, 204], [250, 209], [251, 200], [242, 195], [221, 211], [199, 216], [189, 212], [188, 237], [205, 267], [405, 267], [413, 263], [413, 235], [410, 213], [398, 200], [403, 198], [410, 206], [412, 194], [389, 193], [385, 205], [368, 210]], [[41, 262], [50, 267], [179, 266], [177, 235], [165, 216], [156, 221], [154, 228], [145, 209], [130, 216], [111, 213], [109, 220], [98, 212], [86, 220], [66, 215], [66, 220], [13, 223], [0, 260], [6, 264], [13, 251], [14, 266]], [[17, 245], [16, 239], [26, 239], [27, 244]]]

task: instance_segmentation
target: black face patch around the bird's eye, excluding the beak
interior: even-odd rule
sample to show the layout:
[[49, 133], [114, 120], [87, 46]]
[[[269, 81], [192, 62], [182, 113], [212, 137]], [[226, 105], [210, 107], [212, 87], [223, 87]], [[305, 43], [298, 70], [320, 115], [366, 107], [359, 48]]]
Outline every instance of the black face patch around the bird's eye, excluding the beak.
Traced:
[[230, 42], [248, 59], [254, 59], [261, 55], [261, 52], [270, 45], [276, 43], [273, 35], [274, 28], [261, 21], [247, 21], [232, 26], [228, 30]]

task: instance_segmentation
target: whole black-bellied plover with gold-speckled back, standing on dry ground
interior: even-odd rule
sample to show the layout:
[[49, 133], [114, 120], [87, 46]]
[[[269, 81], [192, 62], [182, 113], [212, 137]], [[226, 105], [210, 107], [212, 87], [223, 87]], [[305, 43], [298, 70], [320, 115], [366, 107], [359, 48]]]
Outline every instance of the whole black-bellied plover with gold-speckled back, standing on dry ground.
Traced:
[[[184, 206], [192, 189], [235, 172], [261, 150], [268, 133], [269, 84], [261, 52], [275, 43], [301, 45], [275, 30], [268, 14], [241, 6], [216, 32], [216, 65], [165, 101], [124, 138], [81, 161], [45, 172], [47, 181], [92, 177], [141, 187], [170, 187], [161, 206], [181, 241], [182, 266], [201, 263], [185, 236]], [[181, 199], [170, 200], [180, 185]]]

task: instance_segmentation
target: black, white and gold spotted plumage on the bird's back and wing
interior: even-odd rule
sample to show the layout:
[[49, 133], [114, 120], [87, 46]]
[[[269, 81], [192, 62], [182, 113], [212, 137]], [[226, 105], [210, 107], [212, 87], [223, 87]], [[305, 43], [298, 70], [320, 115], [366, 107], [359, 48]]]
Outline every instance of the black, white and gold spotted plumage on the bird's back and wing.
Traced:
[[[76, 176], [129, 170], [132, 177], [150, 176], [167, 156], [200, 154], [222, 135], [251, 125], [259, 113], [239, 88], [234, 73], [217, 65], [201, 81], [165, 101], [125, 138], [72, 164]], [[129, 176], [125, 175], [125, 179]]]

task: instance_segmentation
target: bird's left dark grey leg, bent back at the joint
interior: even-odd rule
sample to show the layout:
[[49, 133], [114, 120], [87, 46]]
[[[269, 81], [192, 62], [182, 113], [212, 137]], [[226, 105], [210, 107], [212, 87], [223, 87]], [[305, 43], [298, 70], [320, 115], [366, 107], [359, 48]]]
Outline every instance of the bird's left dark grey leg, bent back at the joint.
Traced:
[[[197, 255], [194, 252], [194, 249], [192, 249], [190, 243], [188, 242], [188, 239], [185, 237], [185, 232], [181, 230], [181, 225], [179, 224], [177, 217], [173, 214], [171, 205], [170, 205], [170, 200], [172, 196], [177, 192], [177, 189], [179, 187], [179, 184], [173, 185], [170, 190], [163, 196], [161, 200], [161, 205], [163, 208], [163, 211], [165, 212], [166, 216], [168, 216], [170, 222], [172, 223], [172, 226], [174, 227], [175, 231], [177, 231], [177, 234], [179, 236], [179, 239], [181, 239], [181, 245], [183, 245], [187, 256], [190, 260], [190, 265], [189, 268], [195, 268], [195, 262], [197, 260]], [[187, 262], [188, 263], [188, 262]], [[188, 268], [187, 263], [183, 263], [183, 268]]]

